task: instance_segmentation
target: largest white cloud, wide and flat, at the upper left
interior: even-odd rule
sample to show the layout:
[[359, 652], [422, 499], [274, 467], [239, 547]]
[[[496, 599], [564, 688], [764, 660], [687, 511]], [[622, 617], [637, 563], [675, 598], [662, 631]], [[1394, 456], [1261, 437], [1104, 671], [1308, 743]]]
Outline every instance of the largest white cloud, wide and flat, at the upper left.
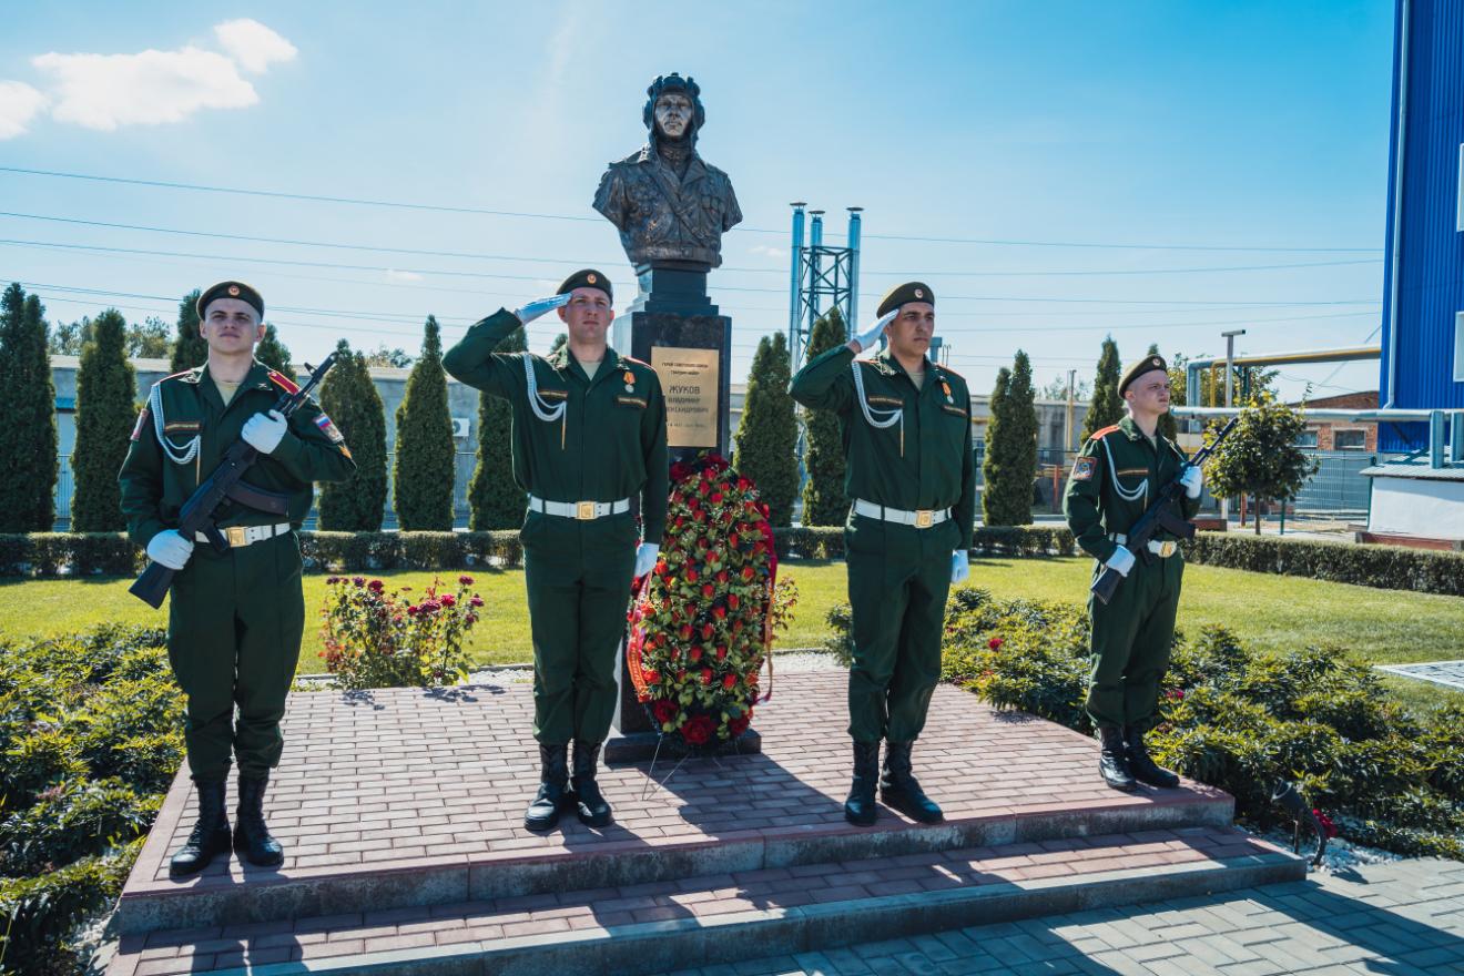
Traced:
[[231, 60], [196, 47], [141, 54], [53, 51], [31, 63], [53, 79], [51, 114], [59, 121], [102, 132], [183, 121], [199, 108], [244, 108], [259, 101]]

